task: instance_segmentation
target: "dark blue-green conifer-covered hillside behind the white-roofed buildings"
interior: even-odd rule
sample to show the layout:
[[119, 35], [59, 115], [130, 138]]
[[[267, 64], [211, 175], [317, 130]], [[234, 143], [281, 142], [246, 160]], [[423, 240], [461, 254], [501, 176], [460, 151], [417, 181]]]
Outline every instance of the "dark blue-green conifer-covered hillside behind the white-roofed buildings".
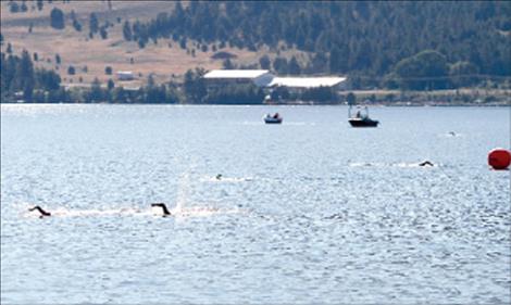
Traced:
[[[511, 2], [504, 1], [192, 1], [150, 22], [126, 23], [125, 30], [140, 47], [169, 37], [249, 50], [284, 42], [311, 53], [301, 63], [309, 73], [383, 76], [434, 50], [470, 74], [511, 75]], [[289, 73], [286, 64], [274, 67]]]

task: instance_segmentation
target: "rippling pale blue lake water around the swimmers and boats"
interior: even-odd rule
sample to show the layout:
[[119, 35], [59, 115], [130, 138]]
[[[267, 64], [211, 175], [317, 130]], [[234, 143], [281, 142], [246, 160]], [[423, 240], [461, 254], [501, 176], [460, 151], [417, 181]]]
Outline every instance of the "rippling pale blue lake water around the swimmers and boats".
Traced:
[[510, 110], [2, 104], [1, 303], [509, 304]]

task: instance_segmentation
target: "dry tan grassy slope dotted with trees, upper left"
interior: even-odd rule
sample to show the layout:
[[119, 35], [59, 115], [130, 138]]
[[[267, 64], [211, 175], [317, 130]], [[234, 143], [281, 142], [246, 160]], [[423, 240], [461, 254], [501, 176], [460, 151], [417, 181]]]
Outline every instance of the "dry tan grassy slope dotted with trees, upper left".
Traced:
[[[21, 1], [15, 2], [21, 3]], [[1, 2], [1, 34], [4, 40], [2, 51], [5, 51], [8, 43], [11, 43], [16, 54], [23, 49], [37, 52], [39, 61], [35, 63], [36, 66], [55, 69], [64, 84], [76, 85], [79, 78], [83, 78], [83, 84], [88, 84], [95, 77], [104, 84], [112, 77], [105, 75], [105, 66], [111, 66], [114, 72], [133, 71], [137, 75], [141, 74], [139, 79], [142, 81], [146, 81], [147, 76], [153, 73], [157, 82], [167, 81], [172, 75], [182, 77], [187, 69], [195, 66], [208, 69], [222, 67], [222, 60], [211, 58], [215, 53], [212, 50], [207, 52], [197, 50], [192, 55], [171, 39], [160, 39], [158, 45], [150, 42], [145, 49], [140, 49], [135, 41], [123, 39], [122, 26], [125, 21], [149, 21], [162, 11], [172, 11], [174, 2], [112, 1], [112, 8], [109, 9], [107, 1], [71, 1], [70, 3], [43, 1], [41, 11], [37, 10], [35, 2], [27, 3], [27, 12], [12, 13], [9, 2]], [[65, 14], [65, 28], [62, 30], [50, 26], [50, 12], [53, 8], [59, 8]], [[72, 11], [75, 12], [76, 18], [83, 26], [82, 31], [75, 30], [72, 26], [70, 17]], [[105, 22], [113, 24], [108, 29], [107, 39], [101, 39], [99, 35], [96, 35], [94, 39], [88, 37], [91, 13], [98, 15], [100, 24]], [[30, 24], [32, 33], [29, 33]], [[187, 49], [197, 49], [195, 43], [196, 41], [188, 40]], [[227, 47], [222, 51], [237, 55], [237, 61], [247, 65], [258, 63], [259, 58], [267, 53], [264, 48], [258, 52], [250, 52]], [[55, 54], [62, 59], [60, 65], [55, 64]], [[76, 68], [76, 75], [67, 75], [70, 65]], [[139, 81], [134, 81], [133, 85], [138, 84]]]

